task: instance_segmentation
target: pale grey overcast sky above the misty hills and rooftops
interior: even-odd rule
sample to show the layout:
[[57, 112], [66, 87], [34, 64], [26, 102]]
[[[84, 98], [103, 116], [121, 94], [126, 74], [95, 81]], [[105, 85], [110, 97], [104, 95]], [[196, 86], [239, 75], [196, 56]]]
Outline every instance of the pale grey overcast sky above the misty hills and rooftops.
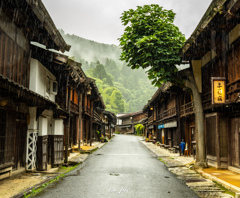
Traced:
[[159, 4], [176, 13], [175, 25], [188, 38], [211, 0], [42, 0], [57, 28], [66, 33], [106, 44], [118, 45], [124, 26], [123, 11]]

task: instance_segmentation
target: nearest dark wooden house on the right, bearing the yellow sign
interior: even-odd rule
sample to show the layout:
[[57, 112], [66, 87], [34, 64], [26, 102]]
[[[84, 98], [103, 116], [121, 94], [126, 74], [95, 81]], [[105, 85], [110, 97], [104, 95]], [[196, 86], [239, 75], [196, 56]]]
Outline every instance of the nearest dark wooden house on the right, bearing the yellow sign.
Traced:
[[238, 170], [239, 7], [239, 0], [213, 0], [182, 50], [183, 59], [190, 62], [202, 94], [208, 163]]

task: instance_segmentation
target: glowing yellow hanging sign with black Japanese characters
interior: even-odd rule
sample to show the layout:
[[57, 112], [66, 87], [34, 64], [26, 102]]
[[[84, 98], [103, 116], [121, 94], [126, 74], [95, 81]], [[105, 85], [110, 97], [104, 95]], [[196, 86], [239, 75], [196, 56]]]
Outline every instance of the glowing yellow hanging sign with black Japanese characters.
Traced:
[[226, 103], [226, 78], [212, 77], [212, 104]]

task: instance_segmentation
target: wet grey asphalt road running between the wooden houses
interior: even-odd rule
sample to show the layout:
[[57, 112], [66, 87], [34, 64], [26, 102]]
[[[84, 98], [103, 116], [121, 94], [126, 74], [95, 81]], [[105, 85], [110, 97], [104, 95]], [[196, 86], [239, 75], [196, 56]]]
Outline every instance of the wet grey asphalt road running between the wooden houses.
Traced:
[[116, 135], [37, 197], [198, 197], [135, 136]]

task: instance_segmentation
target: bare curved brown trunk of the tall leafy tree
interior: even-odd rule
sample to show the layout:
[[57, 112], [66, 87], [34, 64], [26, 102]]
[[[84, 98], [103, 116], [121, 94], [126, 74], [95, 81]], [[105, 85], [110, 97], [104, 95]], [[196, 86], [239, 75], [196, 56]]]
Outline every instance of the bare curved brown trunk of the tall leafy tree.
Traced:
[[188, 75], [188, 80], [184, 81], [186, 87], [192, 90], [193, 103], [195, 111], [195, 129], [196, 129], [196, 163], [195, 167], [207, 167], [205, 132], [204, 132], [204, 114], [202, 108], [202, 99], [192, 74]]

